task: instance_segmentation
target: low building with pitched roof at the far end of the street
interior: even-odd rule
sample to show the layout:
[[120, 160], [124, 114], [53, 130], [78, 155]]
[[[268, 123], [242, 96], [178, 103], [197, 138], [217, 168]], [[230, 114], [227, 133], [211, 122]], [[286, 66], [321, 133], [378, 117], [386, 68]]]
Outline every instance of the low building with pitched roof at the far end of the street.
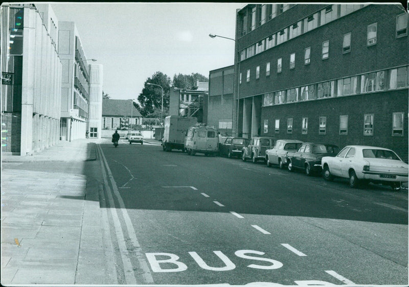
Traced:
[[130, 100], [102, 100], [103, 129], [121, 129], [126, 124], [141, 125], [141, 123], [142, 115]]

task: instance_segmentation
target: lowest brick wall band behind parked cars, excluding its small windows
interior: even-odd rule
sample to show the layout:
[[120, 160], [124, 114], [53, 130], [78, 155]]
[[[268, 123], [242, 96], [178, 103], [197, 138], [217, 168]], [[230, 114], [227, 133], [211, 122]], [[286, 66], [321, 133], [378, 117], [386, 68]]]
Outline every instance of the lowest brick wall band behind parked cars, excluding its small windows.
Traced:
[[[408, 161], [407, 89], [360, 94], [350, 97], [299, 102], [263, 107], [261, 123], [268, 119], [268, 133], [277, 138], [347, 145], [368, 145], [394, 150]], [[403, 112], [403, 136], [392, 136], [392, 115]], [[374, 114], [373, 136], [363, 135], [363, 115]], [[339, 135], [339, 116], [348, 115], [348, 135]], [[319, 135], [319, 118], [327, 117], [326, 134]], [[301, 133], [302, 118], [308, 117], [308, 133]], [[292, 134], [287, 133], [287, 118], [292, 118]], [[275, 133], [280, 119], [280, 133]]]

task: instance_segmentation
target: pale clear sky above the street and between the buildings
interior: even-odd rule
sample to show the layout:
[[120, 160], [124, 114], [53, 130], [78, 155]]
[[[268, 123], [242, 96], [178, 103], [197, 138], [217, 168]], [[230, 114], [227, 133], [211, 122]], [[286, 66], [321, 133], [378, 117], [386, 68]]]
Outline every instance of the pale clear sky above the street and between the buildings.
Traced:
[[245, 3], [50, 3], [76, 23], [88, 62], [103, 65], [111, 99], [137, 99], [156, 71], [199, 73], [234, 64], [236, 9]]

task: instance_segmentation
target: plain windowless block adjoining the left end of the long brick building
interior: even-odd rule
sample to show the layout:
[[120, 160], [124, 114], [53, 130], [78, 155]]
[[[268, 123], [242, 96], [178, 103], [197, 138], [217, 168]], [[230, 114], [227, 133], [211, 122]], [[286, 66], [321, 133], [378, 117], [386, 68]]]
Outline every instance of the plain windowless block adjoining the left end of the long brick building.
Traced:
[[211, 70], [207, 99], [207, 124], [221, 134], [233, 134], [234, 65]]

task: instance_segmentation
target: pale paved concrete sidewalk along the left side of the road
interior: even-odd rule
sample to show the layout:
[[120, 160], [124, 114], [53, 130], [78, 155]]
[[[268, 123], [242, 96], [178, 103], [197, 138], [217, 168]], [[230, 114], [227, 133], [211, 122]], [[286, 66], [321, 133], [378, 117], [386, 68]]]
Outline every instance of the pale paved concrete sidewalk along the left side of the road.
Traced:
[[[97, 142], [60, 141], [32, 156], [2, 161], [90, 161]], [[101, 188], [84, 175], [3, 166], [2, 285], [118, 283], [104, 253]]]

